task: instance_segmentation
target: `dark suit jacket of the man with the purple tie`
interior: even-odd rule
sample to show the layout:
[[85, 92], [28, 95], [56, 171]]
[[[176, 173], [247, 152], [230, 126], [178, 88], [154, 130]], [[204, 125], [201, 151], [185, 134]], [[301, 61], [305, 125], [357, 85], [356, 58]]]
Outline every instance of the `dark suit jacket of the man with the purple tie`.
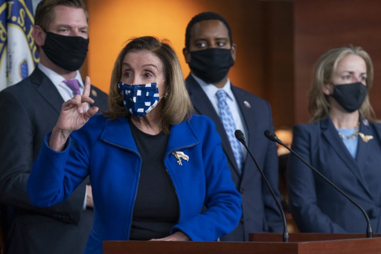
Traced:
[[[107, 94], [91, 86], [90, 97], [107, 109]], [[82, 253], [92, 225], [83, 211], [86, 183], [70, 198], [47, 209], [31, 206], [26, 184], [45, 134], [55, 125], [63, 99], [38, 68], [0, 92], [0, 202], [9, 227], [8, 253]], [[6, 205], [6, 206], [4, 206]], [[4, 216], [4, 214], [2, 214]]]

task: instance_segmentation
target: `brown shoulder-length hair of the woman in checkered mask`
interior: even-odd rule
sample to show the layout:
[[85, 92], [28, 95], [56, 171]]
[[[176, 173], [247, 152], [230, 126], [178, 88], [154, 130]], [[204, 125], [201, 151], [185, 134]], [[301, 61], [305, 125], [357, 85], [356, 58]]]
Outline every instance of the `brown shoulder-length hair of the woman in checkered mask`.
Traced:
[[115, 60], [114, 69], [111, 74], [110, 92], [109, 92], [109, 110], [104, 115], [111, 120], [118, 117], [130, 117], [131, 114], [123, 105], [123, 97], [118, 88], [118, 82], [121, 80], [122, 62], [124, 56], [133, 51], [149, 51], [155, 54], [163, 62], [164, 74], [166, 79], [166, 91], [168, 96], [162, 98], [162, 129], [169, 133], [170, 125], [180, 123], [190, 117], [193, 112], [192, 102], [185, 87], [182, 76], [180, 62], [175, 51], [169, 45], [167, 40], [158, 41], [155, 37], [145, 36], [134, 38], [120, 51]]

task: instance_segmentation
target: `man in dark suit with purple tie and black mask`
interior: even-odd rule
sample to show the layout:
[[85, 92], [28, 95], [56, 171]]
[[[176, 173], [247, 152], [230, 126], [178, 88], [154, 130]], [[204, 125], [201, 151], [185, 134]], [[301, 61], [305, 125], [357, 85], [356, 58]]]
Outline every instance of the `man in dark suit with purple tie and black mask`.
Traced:
[[[83, 91], [78, 69], [86, 57], [87, 32], [82, 0], [41, 1], [33, 29], [40, 63], [29, 77], [0, 92], [0, 202], [6, 213], [6, 253], [73, 254], [84, 249], [93, 219], [89, 181], [67, 201], [47, 209], [31, 206], [26, 185], [62, 103]], [[95, 101], [91, 106], [107, 109], [106, 93], [91, 86], [90, 97]]]

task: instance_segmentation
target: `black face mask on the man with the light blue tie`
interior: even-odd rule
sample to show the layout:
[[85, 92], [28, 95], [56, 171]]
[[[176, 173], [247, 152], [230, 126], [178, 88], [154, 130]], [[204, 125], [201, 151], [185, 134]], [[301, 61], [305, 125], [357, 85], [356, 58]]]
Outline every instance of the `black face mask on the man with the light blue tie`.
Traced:
[[208, 83], [221, 81], [233, 65], [230, 49], [209, 48], [190, 52], [190, 70]]

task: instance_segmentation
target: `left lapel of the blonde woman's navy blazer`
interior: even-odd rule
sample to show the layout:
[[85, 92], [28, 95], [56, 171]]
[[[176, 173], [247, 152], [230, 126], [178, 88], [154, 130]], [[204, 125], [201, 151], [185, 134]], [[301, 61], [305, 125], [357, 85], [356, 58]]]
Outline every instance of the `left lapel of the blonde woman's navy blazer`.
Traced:
[[[366, 184], [364, 175], [358, 166], [358, 162], [352, 157], [350, 152], [346, 149], [344, 143], [340, 139], [335, 126], [333, 125], [330, 118], [326, 118], [322, 120], [322, 132], [328, 143], [335, 150], [337, 155], [341, 158], [343, 163], [352, 171], [352, 173], [359, 179], [360, 184], [364, 187], [368, 195], [371, 197], [371, 194], [368, 189], [368, 185]], [[361, 141], [362, 142], [362, 141]], [[360, 145], [358, 146], [358, 152], [361, 150]], [[359, 156], [359, 155], [358, 155]], [[361, 156], [361, 155], [360, 155]]]

